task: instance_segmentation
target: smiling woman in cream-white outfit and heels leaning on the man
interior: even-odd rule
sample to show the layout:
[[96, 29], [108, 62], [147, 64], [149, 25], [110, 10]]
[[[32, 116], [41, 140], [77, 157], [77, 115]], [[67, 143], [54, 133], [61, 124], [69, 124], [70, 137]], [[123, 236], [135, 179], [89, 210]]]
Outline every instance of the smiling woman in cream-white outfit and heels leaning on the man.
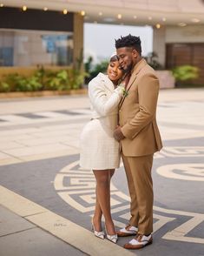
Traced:
[[107, 75], [99, 73], [89, 82], [89, 100], [92, 118], [82, 130], [80, 165], [91, 169], [95, 175], [95, 213], [92, 227], [95, 236], [104, 239], [102, 214], [105, 219], [107, 239], [116, 243], [117, 234], [110, 213], [110, 179], [120, 165], [119, 143], [113, 138], [117, 126], [118, 104], [123, 95], [123, 71], [118, 57], [112, 56]]

